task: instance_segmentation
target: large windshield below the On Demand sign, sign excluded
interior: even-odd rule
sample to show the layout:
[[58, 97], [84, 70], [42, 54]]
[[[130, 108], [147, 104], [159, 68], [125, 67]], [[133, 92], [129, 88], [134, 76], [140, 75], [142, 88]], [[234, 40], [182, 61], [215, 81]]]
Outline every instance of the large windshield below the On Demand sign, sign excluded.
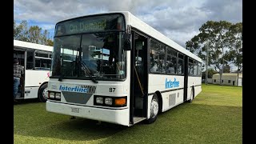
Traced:
[[55, 37], [52, 78], [125, 78], [122, 34], [100, 32]]

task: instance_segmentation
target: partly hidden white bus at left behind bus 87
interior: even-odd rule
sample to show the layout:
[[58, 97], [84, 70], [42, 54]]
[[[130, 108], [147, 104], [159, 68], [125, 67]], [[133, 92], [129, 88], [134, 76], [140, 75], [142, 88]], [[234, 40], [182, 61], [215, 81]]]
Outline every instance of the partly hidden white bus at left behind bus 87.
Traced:
[[53, 46], [14, 40], [14, 59], [24, 68], [16, 99], [47, 100]]

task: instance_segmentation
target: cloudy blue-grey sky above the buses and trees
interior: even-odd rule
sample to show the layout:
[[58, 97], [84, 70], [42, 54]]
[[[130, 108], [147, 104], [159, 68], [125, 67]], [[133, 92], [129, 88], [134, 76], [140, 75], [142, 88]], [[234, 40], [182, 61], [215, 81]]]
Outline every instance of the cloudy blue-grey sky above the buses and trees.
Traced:
[[207, 21], [242, 22], [242, 0], [14, 0], [14, 20], [54, 34], [54, 25], [86, 14], [127, 10], [179, 45]]

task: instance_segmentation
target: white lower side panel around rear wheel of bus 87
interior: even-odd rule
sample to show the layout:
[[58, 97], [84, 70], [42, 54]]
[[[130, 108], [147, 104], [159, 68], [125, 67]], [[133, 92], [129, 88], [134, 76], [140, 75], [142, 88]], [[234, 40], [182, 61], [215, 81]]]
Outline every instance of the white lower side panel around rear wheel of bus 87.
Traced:
[[191, 90], [192, 86], [194, 86], [194, 97], [196, 97], [201, 91], [202, 91], [202, 78], [201, 77], [195, 77], [195, 76], [189, 76], [188, 78], [188, 88], [187, 88], [187, 99], [191, 99]]

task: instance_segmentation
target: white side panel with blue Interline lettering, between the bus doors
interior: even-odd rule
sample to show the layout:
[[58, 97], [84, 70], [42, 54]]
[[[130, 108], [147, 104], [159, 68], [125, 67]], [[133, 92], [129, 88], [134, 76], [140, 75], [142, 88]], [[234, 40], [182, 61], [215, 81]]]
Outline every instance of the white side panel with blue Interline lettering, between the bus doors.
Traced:
[[[149, 74], [149, 94], [159, 91], [162, 94], [162, 111], [169, 110], [183, 102], [184, 76]], [[151, 95], [152, 96], [152, 95]], [[152, 98], [149, 98], [150, 106]], [[148, 110], [148, 114], [150, 109]]]

